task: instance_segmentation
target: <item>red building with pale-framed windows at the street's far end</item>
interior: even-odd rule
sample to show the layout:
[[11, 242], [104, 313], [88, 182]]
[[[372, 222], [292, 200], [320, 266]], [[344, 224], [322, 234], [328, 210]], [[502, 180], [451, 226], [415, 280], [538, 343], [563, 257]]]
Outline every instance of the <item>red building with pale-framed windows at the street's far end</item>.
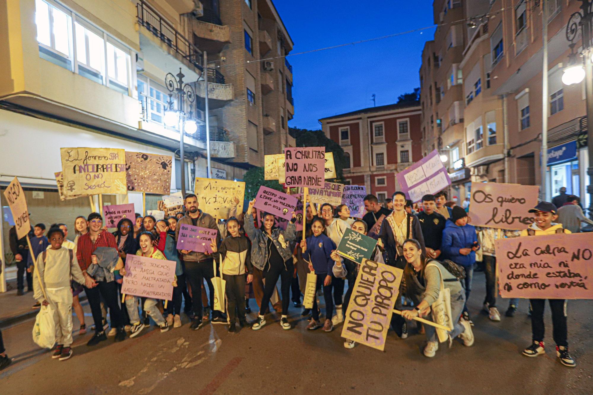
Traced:
[[322, 118], [326, 136], [344, 149], [346, 183], [364, 185], [380, 202], [398, 190], [396, 174], [422, 158], [419, 103], [388, 104]]

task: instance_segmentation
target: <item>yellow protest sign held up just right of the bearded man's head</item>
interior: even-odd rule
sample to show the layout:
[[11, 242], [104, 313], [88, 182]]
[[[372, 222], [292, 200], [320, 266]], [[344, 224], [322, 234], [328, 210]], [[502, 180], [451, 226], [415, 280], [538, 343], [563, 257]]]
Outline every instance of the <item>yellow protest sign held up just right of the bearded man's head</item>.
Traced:
[[200, 209], [216, 219], [228, 219], [235, 199], [238, 200], [237, 212], [243, 211], [245, 183], [243, 181], [201, 179], [196, 177], [194, 191]]

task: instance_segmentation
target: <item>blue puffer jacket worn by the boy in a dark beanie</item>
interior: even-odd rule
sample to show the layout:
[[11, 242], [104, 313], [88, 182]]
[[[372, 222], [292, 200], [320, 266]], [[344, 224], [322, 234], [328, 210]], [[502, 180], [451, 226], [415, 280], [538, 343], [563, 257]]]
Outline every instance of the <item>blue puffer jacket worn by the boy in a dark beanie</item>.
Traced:
[[459, 250], [470, 249], [474, 241], [477, 240], [476, 228], [473, 225], [458, 227], [451, 219], [448, 219], [443, 230], [442, 255], [439, 259], [451, 259], [457, 265], [471, 266], [476, 263], [476, 252], [471, 251], [469, 255], [461, 255]]

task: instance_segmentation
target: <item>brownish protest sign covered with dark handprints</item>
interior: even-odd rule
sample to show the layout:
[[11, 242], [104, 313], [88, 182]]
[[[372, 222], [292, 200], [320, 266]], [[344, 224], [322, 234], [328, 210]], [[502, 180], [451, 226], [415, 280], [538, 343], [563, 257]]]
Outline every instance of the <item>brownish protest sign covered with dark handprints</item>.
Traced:
[[126, 151], [127, 190], [134, 192], [171, 192], [171, 164], [173, 157]]

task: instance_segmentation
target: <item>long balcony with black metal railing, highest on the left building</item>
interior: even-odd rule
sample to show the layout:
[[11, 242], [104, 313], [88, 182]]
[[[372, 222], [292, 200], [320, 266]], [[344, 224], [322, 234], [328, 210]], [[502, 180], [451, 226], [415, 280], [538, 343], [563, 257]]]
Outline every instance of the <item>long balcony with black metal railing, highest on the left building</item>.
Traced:
[[138, 18], [138, 23], [161, 40], [161, 42], [165, 43], [168, 49], [173, 50], [174, 53], [177, 53], [177, 55], [187, 60], [187, 62], [197, 69], [202, 70], [202, 52], [170, 23], [161, 18], [154, 8], [140, 0], [136, 4], [136, 17]]

